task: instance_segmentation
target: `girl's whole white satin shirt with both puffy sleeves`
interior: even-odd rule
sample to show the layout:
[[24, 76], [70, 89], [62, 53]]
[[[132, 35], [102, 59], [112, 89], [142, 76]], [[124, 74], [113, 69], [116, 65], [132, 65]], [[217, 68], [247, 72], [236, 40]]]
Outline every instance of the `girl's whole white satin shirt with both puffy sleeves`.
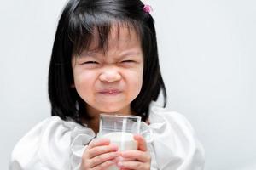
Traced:
[[[151, 154], [151, 170], [202, 170], [204, 150], [184, 116], [155, 102], [141, 133]], [[95, 133], [73, 121], [50, 116], [15, 145], [10, 170], [79, 169], [84, 149]]]

